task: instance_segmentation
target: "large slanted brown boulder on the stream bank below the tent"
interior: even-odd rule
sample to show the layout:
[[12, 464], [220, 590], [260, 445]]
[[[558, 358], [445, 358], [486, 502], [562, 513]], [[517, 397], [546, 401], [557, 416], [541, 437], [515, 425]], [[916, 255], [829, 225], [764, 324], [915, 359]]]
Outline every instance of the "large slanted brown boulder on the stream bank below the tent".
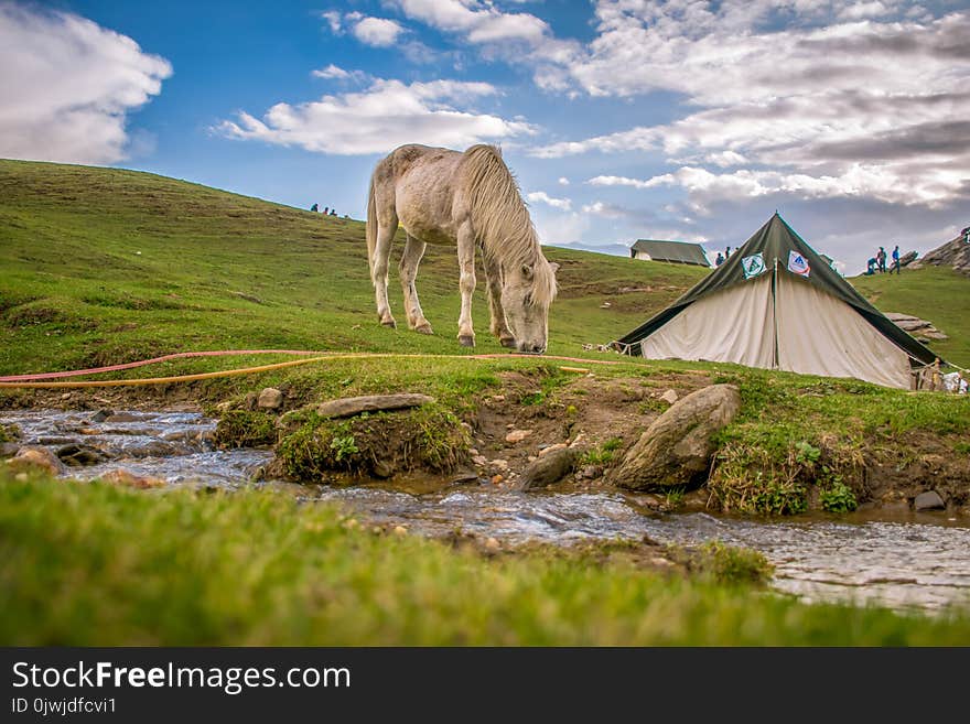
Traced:
[[675, 402], [657, 418], [610, 475], [634, 490], [696, 487], [714, 454], [714, 433], [741, 409], [733, 385], [711, 385]]

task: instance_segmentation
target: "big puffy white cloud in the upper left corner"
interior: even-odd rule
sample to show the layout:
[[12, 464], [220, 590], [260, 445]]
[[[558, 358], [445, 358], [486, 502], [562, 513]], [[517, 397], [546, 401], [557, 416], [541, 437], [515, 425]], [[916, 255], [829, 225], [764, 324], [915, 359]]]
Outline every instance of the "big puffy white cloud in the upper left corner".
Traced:
[[[0, 156], [114, 163], [172, 66], [85, 18], [0, 4]], [[150, 139], [142, 139], [150, 142]]]

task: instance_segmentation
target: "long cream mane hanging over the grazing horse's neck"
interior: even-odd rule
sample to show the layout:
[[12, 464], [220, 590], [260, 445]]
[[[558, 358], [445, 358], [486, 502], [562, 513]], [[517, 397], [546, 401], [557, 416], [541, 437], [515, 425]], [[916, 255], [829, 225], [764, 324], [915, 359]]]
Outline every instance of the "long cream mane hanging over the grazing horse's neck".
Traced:
[[503, 267], [530, 266], [532, 299], [550, 303], [556, 298], [556, 275], [542, 256], [529, 209], [498, 149], [478, 144], [465, 151], [460, 184], [470, 201], [472, 226], [483, 252]]

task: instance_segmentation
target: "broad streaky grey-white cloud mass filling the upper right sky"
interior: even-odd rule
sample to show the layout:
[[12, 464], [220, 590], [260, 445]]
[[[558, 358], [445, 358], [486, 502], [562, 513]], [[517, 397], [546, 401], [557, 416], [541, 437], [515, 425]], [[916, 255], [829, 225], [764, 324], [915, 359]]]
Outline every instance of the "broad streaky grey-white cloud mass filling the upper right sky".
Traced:
[[[664, 89], [697, 110], [531, 154], [664, 151], [680, 166], [669, 183], [709, 197], [952, 202], [970, 184], [970, 12], [923, 12], [902, 0], [601, 0], [596, 39], [560, 71], [594, 96]], [[708, 179], [704, 166], [737, 171]]]

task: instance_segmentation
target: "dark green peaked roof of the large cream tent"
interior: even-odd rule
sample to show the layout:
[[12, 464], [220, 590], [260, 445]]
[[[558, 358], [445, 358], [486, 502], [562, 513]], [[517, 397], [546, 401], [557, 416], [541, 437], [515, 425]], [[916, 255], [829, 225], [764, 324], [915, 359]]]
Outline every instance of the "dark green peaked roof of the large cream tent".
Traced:
[[[899, 328], [892, 320], [870, 304], [862, 294], [855, 291], [838, 271], [832, 269], [805, 240], [801, 239], [788, 224], [785, 223], [777, 212], [762, 228], [755, 231], [740, 249], [732, 253], [728, 260], [713, 272], [704, 277], [700, 282], [691, 287], [677, 301], [662, 312], [654, 315], [644, 324], [624, 337], [615, 341], [614, 346], [623, 349], [629, 347], [630, 354], [640, 354], [639, 343], [661, 326], [667, 324], [682, 310], [693, 304], [700, 298], [712, 292], [734, 287], [744, 282], [744, 270], [741, 261], [761, 252], [765, 260], [765, 267], [772, 269], [777, 262], [778, 269], [788, 271], [788, 252], [795, 250], [808, 261], [811, 274], [802, 278], [806, 283], [813, 284], [823, 291], [842, 300], [859, 312], [865, 320], [879, 329], [883, 336], [906, 352], [912, 358], [930, 365], [939, 357], [935, 352], [919, 344], [914, 337]], [[940, 359], [942, 363], [944, 360]]]

